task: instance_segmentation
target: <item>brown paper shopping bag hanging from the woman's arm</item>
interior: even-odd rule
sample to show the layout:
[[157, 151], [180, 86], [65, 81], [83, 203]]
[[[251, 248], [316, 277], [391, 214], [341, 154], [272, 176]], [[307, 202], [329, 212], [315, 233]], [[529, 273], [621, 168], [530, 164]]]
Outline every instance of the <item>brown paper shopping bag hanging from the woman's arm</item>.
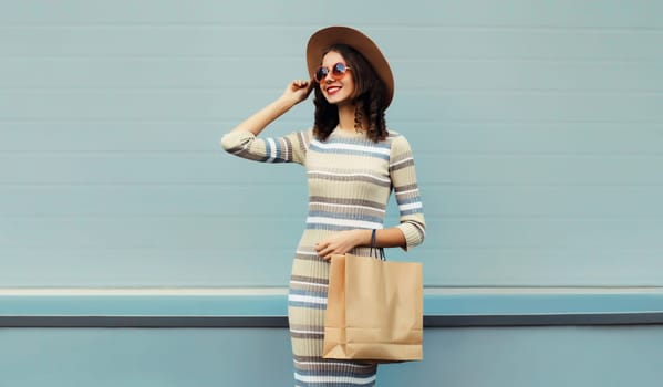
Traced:
[[375, 363], [421, 360], [422, 264], [333, 255], [322, 356]]

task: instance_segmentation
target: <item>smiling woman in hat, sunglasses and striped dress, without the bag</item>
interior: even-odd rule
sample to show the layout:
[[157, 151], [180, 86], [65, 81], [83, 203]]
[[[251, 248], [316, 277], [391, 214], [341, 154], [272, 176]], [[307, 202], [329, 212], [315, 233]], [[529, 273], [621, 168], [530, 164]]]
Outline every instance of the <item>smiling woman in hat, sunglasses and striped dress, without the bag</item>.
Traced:
[[[410, 144], [387, 130], [384, 112], [394, 93], [391, 69], [360, 31], [331, 27], [307, 46], [311, 81], [291, 82], [283, 94], [221, 139], [237, 156], [307, 168], [309, 216], [292, 263], [288, 318], [296, 386], [374, 386], [376, 365], [323, 359], [329, 260], [367, 255], [380, 248], [410, 249], [424, 239], [424, 215]], [[257, 136], [314, 90], [313, 128], [280, 138]], [[383, 228], [391, 190], [400, 223]]]

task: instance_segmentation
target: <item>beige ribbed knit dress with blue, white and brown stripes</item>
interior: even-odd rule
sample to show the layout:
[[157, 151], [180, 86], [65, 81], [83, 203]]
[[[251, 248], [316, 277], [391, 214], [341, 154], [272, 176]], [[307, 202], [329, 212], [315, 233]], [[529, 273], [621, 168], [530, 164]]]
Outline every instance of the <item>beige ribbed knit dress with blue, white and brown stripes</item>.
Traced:
[[[280, 138], [234, 132], [221, 138], [221, 146], [247, 159], [307, 168], [309, 215], [288, 296], [294, 385], [375, 386], [376, 365], [321, 357], [329, 262], [315, 253], [315, 243], [341, 230], [382, 229], [392, 189], [407, 248], [423, 241], [425, 222], [410, 144], [394, 132], [374, 143], [364, 134], [335, 129], [324, 142], [312, 130]], [[351, 253], [369, 251], [356, 248]]]

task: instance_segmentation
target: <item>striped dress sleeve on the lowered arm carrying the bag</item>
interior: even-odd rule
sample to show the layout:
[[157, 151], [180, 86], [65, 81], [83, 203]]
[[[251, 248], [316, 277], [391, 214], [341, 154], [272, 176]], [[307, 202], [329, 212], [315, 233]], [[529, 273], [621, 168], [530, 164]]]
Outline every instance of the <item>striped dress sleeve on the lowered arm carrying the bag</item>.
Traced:
[[416, 180], [414, 158], [407, 139], [397, 135], [392, 142], [390, 176], [401, 215], [397, 228], [406, 240], [405, 250], [424, 241], [426, 221]]

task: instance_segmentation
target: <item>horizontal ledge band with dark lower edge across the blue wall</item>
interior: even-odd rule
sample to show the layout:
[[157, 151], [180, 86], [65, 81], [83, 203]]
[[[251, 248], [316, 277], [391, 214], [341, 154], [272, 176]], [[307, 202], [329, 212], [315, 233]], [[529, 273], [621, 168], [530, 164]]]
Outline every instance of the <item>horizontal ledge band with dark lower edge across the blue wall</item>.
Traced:
[[[33, 291], [30, 294], [27, 292]], [[284, 289], [246, 295], [184, 290], [8, 290], [3, 327], [287, 326]], [[121, 291], [122, 293], [116, 293]], [[152, 293], [149, 293], [152, 291]], [[215, 293], [214, 290], [205, 290]], [[23, 292], [23, 293], [21, 293]], [[40, 293], [42, 292], [42, 293]], [[269, 292], [274, 292], [269, 294]], [[278, 293], [277, 293], [278, 292]], [[426, 326], [660, 324], [661, 289], [426, 289]], [[22, 294], [22, 295], [21, 295]], [[205, 311], [205, 313], [200, 313]]]

